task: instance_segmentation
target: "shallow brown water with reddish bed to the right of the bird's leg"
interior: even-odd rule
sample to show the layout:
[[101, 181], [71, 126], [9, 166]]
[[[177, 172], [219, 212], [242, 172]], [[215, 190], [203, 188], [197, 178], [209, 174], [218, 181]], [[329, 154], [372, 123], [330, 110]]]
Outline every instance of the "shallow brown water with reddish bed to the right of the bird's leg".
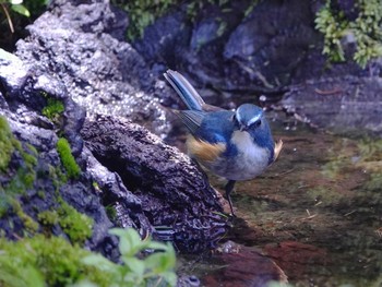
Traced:
[[236, 186], [238, 218], [222, 241], [240, 246], [184, 256], [180, 270], [203, 286], [265, 286], [264, 274], [290, 286], [382, 286], [382, 141], [287, 121], [273, 122], [278, 160]]

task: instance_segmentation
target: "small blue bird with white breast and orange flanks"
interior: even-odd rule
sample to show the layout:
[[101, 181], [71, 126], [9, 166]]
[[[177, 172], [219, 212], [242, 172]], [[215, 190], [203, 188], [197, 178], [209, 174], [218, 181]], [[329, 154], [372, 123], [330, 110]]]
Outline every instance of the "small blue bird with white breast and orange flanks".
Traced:
[[188, 108], [175, 110], [190, 133], [188, 154], [227, 179], [226, 199], [235, 217], [230, 198], [235, 183], [261, 175], [278, 157], [283, 141], [273, 141], [262, 108], [242, 104], [234, 111], [208, 105], [181, 73], [167, 70], [164, 76]]

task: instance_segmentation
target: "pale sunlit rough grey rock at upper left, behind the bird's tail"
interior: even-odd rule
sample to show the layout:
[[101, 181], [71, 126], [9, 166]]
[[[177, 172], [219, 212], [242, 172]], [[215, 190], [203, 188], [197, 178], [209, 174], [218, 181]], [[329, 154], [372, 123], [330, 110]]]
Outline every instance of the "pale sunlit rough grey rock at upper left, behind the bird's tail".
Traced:
[[127, 16], [105, 1], [56, 1], [51, 7], [16, 46], [33, 73], [50, 71], [89, 115], [129, 117], [166, 133], [169, 125], [159, 103], [171, 101], [168, 87], [157, 84], [144, 59], [121, 41]]

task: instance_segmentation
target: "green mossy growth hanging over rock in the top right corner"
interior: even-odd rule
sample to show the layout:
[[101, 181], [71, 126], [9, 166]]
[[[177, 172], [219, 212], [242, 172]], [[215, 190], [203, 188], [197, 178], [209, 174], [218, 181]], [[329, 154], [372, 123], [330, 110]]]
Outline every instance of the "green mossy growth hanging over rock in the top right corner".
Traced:
[[354, 9], [358, 16], [349, 21], [343, 11], [332, 9], [331, 0], [326, 0], [317, 14], [315, 27], [324, 35], [323, 53], [331, 61], [345, 61], [341, 40], [353, 35], [357, 44], [353, 59], [365, 68], [368, 61], [382, 56], [382, 4], [380, 0], [357, 0]]

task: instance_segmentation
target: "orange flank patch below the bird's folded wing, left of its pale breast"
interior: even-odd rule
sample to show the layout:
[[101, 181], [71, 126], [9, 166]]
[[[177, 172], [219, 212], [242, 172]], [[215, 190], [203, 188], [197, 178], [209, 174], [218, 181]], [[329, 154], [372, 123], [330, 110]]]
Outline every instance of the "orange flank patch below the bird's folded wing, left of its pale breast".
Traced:
[[226, 151], [224, 143], [211, 144], [201, 140], [196, 140], [192, 135], [187, 139], [187, 147], [189, 154], [199, 162], [214, 162], [222, 153]]

